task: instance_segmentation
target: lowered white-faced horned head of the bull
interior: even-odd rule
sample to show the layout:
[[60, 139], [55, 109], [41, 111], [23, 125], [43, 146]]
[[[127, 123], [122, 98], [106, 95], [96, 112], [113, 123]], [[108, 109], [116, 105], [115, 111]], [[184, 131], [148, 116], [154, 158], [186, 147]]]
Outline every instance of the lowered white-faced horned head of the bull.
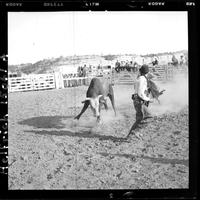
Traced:
[[85, 103], [85, 101], [90, 102], [90, 108], [97, 119], [100, 119], [100, 106], [101, 103], [105, 101], [104, 98], [101, 98], [103, 95], [98, 95], [97, 97], [86, 97], [82, 103]]

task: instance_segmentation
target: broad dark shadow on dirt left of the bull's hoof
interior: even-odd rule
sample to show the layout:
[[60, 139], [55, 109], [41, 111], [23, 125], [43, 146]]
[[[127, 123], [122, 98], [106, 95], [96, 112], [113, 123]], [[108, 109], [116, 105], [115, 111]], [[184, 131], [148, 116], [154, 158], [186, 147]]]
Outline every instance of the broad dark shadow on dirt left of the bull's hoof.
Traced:
[[57, 128], [61, 129], [66, 126], [62, 123], [64, 119], [73, 119], [72, 116], [40, 116], [32, 117], [19, 122], [20, 125], [33, 126], [34, 128]]

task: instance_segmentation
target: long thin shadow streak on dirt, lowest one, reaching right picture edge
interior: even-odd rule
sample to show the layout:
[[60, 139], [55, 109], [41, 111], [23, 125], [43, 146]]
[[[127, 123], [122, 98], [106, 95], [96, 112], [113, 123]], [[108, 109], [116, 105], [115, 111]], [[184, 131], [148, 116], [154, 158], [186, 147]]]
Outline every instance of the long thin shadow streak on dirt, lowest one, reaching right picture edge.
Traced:
[[131, 154], [109, 154], [109, 153], [105, 153], [105, 152], [100, 152], [99, 153], [102, 156], [116, 156], [116, 157], [125, 157], [125, 158], [129, 158], [132, 160], [136, 160], [137, 158], [141, 158], [141, 159], [147, 159], [150, 160], [152, 163], [161, 163], [161, 164], [180, 164], [180, 165], [185, 165], [186, 167], [189, 166], [189, 161], [188, 160], [179, 160], [179, 159], [169, 159], [169, 158], [155, 158], [155, 157], [149, 157], [149, 156], [135, 156], [135, 155], [131, 155]]

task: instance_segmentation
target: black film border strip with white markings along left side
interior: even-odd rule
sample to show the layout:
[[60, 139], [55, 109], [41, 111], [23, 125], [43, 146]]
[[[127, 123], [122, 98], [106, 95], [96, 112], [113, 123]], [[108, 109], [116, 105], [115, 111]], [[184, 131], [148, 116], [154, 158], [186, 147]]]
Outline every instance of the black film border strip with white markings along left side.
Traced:
[[8, 188], [7, 13], [0, 9], [0, 187]]

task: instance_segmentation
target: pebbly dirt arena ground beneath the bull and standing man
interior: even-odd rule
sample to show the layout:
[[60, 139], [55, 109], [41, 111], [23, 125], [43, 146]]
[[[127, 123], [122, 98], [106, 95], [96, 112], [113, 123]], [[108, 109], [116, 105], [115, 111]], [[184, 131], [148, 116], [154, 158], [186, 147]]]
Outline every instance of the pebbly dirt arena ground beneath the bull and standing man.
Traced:
[[9, 94], [9, 189], [188, 188], [187, 80], [160, 84], [157, 116], [127, 136], [135, 121], [132, 86], [114, 86], [97, 124], [88, 109], [79, 121], [86, 86]]

